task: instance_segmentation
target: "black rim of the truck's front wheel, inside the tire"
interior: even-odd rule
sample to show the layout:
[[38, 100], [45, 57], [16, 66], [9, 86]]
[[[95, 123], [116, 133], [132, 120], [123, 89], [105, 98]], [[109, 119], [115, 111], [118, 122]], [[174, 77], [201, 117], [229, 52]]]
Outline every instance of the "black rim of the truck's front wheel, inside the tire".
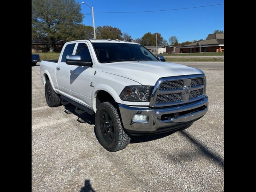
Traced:
[[112, 142], [114, 140], [114, 126], [107, 112], [100, 114], [100, 132], [106, 142]]

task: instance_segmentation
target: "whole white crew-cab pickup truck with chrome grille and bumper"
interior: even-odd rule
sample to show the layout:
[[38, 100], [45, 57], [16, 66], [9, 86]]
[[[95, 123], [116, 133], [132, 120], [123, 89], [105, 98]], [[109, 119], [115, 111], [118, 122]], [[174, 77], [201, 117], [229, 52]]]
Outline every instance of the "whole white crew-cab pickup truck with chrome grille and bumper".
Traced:
[[202, 70], [162, 62], [125, 40], [77, 40], [58, 60], [40, 64], [48, 106], [71, 103], [95, 113], [95, 132], [108, 151], [125, 148], [132, 135], [190, 126], [208, 110]]

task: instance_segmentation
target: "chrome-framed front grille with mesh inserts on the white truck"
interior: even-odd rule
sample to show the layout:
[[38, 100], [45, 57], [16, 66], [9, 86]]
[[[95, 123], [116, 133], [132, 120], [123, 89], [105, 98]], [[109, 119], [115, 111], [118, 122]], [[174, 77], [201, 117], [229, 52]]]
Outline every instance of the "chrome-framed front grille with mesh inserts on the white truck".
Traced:
[[160, 78], [156, 83], [151, 107], [172, 106], [204, 98], [206, 78], [204, 74]]

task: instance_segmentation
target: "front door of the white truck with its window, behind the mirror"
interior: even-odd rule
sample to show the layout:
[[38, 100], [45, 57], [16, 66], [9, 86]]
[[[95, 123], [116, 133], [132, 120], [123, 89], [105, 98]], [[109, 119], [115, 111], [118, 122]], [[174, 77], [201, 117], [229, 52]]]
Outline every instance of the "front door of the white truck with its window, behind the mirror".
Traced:
[[[80, 55], [82, 61], [92, 62], [90, 50], [86, 42], [78, 43], [74, 54]], [[93, 71], [93, 67], [70, 65], [70, 71], [71, 70], [70, 89], [72, 96], [80, 103], [91, 107], [90, 75]]]

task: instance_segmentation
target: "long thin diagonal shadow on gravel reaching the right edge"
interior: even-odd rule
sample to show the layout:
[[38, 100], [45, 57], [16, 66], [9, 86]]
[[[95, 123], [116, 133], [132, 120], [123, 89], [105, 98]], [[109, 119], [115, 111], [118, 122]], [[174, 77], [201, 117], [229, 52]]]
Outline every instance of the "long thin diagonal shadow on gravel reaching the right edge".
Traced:
[[180, 133], [188, 138], [190, 142], [196, 145], [206, 156], [208, 156], [208, 158], [212, 159], [214, 162], [218, 163], [222, 168], [224, 168], [224, 161], [220, 158], [220, 156], [210, 152], [210, 150], [208, 150], [202, 143], [200, 143], [200, 141], [196, 140], [183, 130], [181, 130]]

